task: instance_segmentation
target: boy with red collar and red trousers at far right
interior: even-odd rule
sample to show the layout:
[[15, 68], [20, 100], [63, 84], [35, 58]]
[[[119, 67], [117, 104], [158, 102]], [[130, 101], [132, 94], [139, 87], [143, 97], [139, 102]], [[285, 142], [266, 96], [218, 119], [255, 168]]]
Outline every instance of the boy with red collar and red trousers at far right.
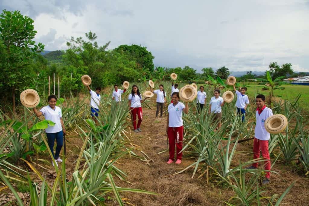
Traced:
[[[266, 159], [264, 169], [270, 170], [270, 157], [268, 151], [268, 141], [270, 138], [269, 132], [265, 129], [265, 121], [268, 117], [273, 116], [273, 111], [266, 107], [265, 105], [265, 96], [257, 95], [256, 96], [256, 126], [254, 129], [254, 142], [253, 142], [253, 158], [260, 158], [260, 151], [262, 152], [263, 158]], [[258, 163], [252, 164], [252, 166], [247, 167], [247, 169], [256, 169]], [[262, 181], [262, 184], [268, 184], [270, 182], [270, 172], [265, 172], [265, 178]]]

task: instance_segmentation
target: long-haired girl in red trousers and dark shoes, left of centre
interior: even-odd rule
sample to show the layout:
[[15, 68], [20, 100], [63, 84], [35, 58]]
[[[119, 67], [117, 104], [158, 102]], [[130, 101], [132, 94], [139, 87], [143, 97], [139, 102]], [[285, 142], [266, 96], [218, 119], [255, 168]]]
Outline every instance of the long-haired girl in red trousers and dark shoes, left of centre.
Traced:
[[[145, 99], [147, 98], [149, 97], [146, 97]], [[131, 94], [129, 95], [128, 99], [129, 99], [129, 109], [131, 111], [134, 132], [142, 132], [142, 130], [140, 129], [143, 119], [143, 111], [141, 103], [143, 103], [145, 99], [142, 99], [142, 95], [139, 92], [138, 86], [136, 85], [132, 86]], [[137, 125], [136, 125], [136, 115], [138, 116]]]

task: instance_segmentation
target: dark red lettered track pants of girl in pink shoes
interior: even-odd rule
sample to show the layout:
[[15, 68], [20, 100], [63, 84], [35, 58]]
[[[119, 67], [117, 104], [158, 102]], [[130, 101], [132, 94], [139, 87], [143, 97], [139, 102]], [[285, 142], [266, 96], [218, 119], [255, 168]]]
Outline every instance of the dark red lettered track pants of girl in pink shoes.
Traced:
[[182, 149], [182, 138], [183, 138], [183, 131], [184, 127], [168, 127], [167, 129], [167, 136], [168, 136], [168, 143], [169, 143], [169, 149], [170, 149], [170, 157], [169, 159], [174, 161], [175, 157], [175, 142], [176, 142], [176, 156], [177, 159], [181, 160], [182, 152], [180, 150]]

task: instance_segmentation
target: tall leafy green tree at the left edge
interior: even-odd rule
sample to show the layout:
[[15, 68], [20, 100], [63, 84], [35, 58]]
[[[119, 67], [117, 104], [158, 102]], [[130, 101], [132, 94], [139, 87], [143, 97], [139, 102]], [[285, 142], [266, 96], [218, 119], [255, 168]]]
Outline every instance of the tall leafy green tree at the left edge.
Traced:
[[41, 43], [35, 44], [32, 39], [36, 35], [34, 21], [20, 14], [19, 11], [3, 10], [0, 15], [0, 40], [1, 52], [5, 55], [1, 60], [6, 59], [6, 63], [1, 63], [0, 80], [3, 95], [12, 97], [13, 111], [15, 112], [15, 95], [20, 92], [21, 87], [33, 77], [26, 68], [32, 62], [37, 53], [44, 49]]

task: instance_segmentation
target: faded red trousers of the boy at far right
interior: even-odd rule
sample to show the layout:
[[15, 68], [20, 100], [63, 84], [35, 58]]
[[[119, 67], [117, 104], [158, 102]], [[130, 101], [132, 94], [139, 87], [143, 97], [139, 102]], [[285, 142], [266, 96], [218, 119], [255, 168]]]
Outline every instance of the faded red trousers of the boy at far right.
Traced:
[[[267, 159], [265, 161], [264, 169], [270, 170], [270, 157], [268, 151], [268, 140], [259, 140], [254, 138], [253, 142], [253, 159], [260, 158], [260, 151], [262, 152], [263, 158]], [[257, 167], [258, 163], [252, 164], [252, 166]], [[270, 172], [265, 172], [265, 177], [270, 178]]]

